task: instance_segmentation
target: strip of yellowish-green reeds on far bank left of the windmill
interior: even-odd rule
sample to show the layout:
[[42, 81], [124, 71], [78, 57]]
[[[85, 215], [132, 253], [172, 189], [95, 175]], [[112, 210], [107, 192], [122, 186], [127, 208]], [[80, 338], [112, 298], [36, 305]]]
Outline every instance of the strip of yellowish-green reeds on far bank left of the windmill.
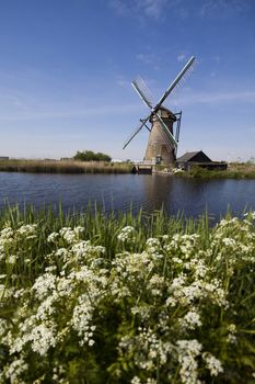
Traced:
[[129, 163], [62, 160], [1, 160], [0, 172], [130, 173]]

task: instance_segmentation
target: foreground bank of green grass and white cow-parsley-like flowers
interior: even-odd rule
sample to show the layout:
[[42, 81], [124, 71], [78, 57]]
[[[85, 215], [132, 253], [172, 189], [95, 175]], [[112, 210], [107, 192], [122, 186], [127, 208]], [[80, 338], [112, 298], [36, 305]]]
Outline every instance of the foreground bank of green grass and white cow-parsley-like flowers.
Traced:
[[254, 383], [255, 213], [0, 213], [1, 383]]

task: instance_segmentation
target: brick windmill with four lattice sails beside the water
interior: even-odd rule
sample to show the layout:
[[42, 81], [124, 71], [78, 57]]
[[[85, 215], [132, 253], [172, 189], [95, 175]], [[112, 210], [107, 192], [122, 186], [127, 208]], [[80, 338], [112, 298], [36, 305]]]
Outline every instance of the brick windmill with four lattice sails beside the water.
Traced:
[[[141, 124], [126, 140], [123, 149], [125, 149], [143, 126], [146, 126], [147, 129], [150, 131], [150, 136], [147, 145], [144, 162], [162, 163], [165, 166], [174, 165], [178, 146], [182, 112], [171, 112], [163, 106], [163, 102], [170, 93], [179, 86], [179, 81], [185, 79], [188, 72], [193, 71], [195, 57], [192, 56], [154, 106], [152, 105], [151, 95], [144, 81], [142, 79], [132, 81], [132, 87], [143, 103], [149, 108], [150, 114], [140, 120]], [[148, 126], [148, 122], [150, 123], [150, 126]], [[175, 134], [173, 129], [174, 123], [176, 123]]]

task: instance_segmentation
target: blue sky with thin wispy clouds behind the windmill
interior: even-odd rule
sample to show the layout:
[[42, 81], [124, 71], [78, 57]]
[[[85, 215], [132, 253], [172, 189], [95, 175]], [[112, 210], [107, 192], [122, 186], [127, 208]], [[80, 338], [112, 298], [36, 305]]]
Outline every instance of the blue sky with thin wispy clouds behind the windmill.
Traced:
[[255, 157], [255, 1], [0, 0], [0, 156], [92, 149], [142, 159], [143, 129], [123, 143], [194, 55], [165, 103], [183, 111], [178, 155]]

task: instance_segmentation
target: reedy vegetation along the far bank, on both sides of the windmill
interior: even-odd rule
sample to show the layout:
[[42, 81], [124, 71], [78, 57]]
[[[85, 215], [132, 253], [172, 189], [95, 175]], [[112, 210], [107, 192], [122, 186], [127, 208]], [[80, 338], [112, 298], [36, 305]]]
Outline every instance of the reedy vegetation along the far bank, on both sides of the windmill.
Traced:
[[[131, 162], [79, 161], [79, 160], [0, 160], [0, 172], [34, 173], [131, 173]], [[230, 162], [228, 169], [207, 170], [193, 168], [190, 171], [172, 172], [164, 166], [155, 166], [155, 173], [196, 179], [255, 179], [254, 163]]]

